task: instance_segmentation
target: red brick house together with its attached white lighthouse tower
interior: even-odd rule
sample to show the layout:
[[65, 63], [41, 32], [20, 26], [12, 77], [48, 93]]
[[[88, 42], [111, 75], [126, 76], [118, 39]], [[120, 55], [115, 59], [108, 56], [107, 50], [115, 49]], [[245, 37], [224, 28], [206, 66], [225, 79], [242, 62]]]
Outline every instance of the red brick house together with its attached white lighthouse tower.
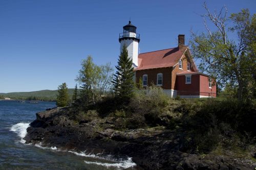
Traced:
[[184, 35], [178, 36], [177, 47], [138, 54], [140, 36], [136, 34], [136, 27], [129, 21], [123, 30], [119, 42], [121, 47], [127, 45], [137, 83], [141, 78], [143, 86], [161, 86], [172, 97], [216, 97], [216, 83], [208, 75], [198, 72], [189, 48], [184, 45]]

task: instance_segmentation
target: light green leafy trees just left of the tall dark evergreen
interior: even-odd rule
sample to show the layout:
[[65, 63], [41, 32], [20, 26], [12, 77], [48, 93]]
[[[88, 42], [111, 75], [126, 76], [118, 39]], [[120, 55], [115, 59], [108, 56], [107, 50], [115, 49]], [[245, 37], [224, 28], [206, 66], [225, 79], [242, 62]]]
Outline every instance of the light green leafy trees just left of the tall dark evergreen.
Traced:
[[81, 84], [81, 98], [88, 98], [95, 103], [110, 88], [113, 68], [110, 63], [100, 66], [94, 64], [91, 56], [83, 59], [81, 66], [76, 78]]

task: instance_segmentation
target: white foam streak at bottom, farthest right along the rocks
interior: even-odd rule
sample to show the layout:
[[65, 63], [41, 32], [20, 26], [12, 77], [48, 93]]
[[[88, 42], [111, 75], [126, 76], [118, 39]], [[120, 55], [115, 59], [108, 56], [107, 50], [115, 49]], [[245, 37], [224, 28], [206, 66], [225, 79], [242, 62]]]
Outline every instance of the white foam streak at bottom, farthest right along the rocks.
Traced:
[[128, 158], [126, 161], [121, 161], [118, 163], [103, 163], [103, 162], [92, 162], [92, 161], [84, 161], [87, 164], [96, 164], [96, 165], [102, 165], [102, 166], [106, 166], [106, 167], [118, 167], [118, 168], [129, 168], [129, 167], [133, 167], [136, 166], [136, 163], [132, 162], [132, 158]]

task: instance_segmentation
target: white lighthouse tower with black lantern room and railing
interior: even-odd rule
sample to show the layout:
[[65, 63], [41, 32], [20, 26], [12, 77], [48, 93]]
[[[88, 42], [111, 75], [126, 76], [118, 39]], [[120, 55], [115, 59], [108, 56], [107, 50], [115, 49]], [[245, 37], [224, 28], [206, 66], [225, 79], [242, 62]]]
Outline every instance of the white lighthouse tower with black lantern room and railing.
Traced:
[[127, 46], [128, 57], [133, 60], [133, 66], [138, 67], [138, 50], [140, 42], [140, 34], [136, 33], [136, 27], [131, 21], [126, 26], [123, 26], [123, 33], [119, 34], [120, 52], [125, 44]]

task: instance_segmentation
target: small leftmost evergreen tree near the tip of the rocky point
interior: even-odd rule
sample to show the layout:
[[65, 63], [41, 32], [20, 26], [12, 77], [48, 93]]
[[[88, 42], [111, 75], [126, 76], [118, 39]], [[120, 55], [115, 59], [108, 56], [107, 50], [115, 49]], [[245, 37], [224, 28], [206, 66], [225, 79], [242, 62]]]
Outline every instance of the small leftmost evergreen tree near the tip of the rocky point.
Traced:
[[61, 85], [58, 86], [56, 105], [58, 107], [65, 107], [67, 106], [68, 101], [69, 101], [68, 87], [66, 83], [62, 83]]

